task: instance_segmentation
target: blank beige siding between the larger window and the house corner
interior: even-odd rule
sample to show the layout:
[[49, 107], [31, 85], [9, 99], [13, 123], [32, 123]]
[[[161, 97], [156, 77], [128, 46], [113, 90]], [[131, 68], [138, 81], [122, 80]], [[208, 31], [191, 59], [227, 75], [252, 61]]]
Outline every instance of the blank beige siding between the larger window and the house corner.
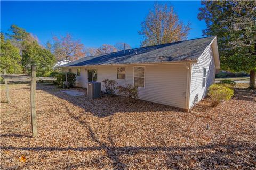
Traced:
[[165, 105], [185, 108], [187, 70], [184, 65], [146, 66], [145, 88], [139, 97]]

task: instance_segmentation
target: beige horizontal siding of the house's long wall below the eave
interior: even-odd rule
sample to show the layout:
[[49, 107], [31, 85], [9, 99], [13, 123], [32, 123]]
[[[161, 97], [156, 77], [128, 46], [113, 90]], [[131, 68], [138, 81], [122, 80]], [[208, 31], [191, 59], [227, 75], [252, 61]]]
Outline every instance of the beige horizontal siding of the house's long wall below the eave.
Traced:
[[[117, 79], [118, 66], [81, 67], [77, 86], [87, 88], [85, 69], [97, 69], [97, 81], [101, 82], [101, 90], [104, 90], [104, 79], [115, 80], [118, 85], [133, 85], [134, 66], [145, 66], [145, 88], [138, 88], [139, 99], [186, 108], [187, 69], [184, 64], [126, 65], [125, 80]], [[72, 72], [76, 73], [76, 68], [72, 68]]]

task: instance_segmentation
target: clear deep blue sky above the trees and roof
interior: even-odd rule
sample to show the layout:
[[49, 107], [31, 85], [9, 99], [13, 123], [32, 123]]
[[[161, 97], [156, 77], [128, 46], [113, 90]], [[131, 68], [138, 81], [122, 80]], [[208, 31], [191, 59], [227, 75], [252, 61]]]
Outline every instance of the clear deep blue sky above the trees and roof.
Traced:
[[[86, 47], [126, 42], [140, 46], [138, 34], [143, 21], [156, 1], [1, 1], [1, 31], [11, 24], [36, 35], [41, 44], [53, 35], [70, 33]], [[198, 21], [200, 1], [163, 1], [174, 7], [180, 20], [191, 22], [188, 39], [202, 36], [204, 21]]]

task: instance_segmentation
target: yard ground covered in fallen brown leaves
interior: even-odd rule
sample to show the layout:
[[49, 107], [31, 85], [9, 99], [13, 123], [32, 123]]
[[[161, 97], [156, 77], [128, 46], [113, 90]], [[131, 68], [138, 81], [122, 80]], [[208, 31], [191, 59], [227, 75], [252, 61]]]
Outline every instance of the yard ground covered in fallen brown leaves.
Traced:
[[37, 84], [36, 138], [29, 95], [29, 85], [11, 85], [7, 104], [1, 88], [1, 169], [256, 168], [255, 90], [236, 88], [230, 101], [212, 108], [205, 99], [186, 113]]

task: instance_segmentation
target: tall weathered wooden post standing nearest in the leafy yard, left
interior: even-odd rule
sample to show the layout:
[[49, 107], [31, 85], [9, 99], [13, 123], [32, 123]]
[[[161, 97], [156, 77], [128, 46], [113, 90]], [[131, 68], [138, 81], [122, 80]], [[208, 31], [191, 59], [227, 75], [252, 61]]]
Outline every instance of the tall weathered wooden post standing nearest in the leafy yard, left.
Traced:
[[36, 130], [36, 66], [31, 66], [31, 125], [33, 137], [37, 136]]

